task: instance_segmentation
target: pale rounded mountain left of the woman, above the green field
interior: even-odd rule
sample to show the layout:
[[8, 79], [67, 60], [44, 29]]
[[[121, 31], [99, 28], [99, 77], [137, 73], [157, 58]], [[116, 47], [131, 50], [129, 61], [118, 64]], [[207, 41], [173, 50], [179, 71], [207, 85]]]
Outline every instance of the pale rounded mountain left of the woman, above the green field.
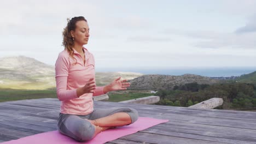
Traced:
[[25, 56], [0, 58], [0, 87], [13, 89], [45, 89], [55, 86], [55, 70]]

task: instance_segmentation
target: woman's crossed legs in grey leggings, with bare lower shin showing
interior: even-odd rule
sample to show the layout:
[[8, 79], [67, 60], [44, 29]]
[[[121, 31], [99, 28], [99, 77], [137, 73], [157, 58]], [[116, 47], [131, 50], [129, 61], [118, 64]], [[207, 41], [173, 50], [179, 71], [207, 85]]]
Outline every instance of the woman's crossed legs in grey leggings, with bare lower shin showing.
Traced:
[[68, 114], [61, 116], [58, 120], [60, 133], [78, 141], [88, 141], [106, 129], [134, 123], [138, 119], [138, 112], [128, 107], [97, 109], [84, 117]]

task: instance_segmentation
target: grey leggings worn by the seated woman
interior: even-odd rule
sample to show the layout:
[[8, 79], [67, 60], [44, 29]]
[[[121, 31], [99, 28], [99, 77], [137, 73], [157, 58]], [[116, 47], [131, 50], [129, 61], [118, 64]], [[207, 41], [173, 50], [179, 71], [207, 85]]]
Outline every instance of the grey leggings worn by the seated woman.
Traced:
[[70, 115], [60, 113], [58, 119], [58, 130], [60, 133], [72, 137], [77, 141], [88, 141], [93, 138], [95, 127], [93, 127], [89, 121], [85, 121], [84, 119], [94, 120], [113, 115], [117, 112], [126, 112], [131, 117], [131, 123], [134, 123], [138, 119], [138, 112], [129, 107], [97, 109], [89, 115]]

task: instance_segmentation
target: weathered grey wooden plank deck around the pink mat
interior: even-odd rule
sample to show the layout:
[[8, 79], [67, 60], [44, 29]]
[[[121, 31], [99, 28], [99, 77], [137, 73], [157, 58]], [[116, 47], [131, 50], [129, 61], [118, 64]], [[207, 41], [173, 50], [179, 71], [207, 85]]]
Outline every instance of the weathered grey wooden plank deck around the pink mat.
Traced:
[[[95, 109], [120, 106], [170, 121], [108, 143], [256, 143], [256, 112], [95, 101]], [[53, 98], [0, 103], [0, 142], [56, 130], [59, 107]]]

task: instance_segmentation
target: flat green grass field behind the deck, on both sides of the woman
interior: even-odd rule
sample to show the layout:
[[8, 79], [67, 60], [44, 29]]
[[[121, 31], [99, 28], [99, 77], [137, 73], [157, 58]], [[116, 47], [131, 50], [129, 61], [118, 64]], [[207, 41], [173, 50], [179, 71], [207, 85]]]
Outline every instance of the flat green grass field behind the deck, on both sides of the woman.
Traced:
[[[109, 92], [109, 100], [113, 102], [137, 99], [153, 95], [143, 91], [115, 91]], [[57, 98], [56, 89], [44, 90], [27, 90], [27, 89], [7, 89], [0, 88], [0, 102], [24, 100], [24, 99], [40, 99], [40, 98]]]

